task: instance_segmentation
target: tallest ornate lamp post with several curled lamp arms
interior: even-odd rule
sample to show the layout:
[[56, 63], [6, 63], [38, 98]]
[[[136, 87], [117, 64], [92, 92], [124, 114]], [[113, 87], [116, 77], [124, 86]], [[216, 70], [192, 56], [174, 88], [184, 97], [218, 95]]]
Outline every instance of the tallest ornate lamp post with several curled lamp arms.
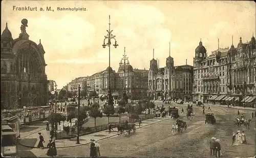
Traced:
[[[104, 36], [104, 42], [102, 44], [102, 47], [105, 48], [106, 46], [109, 47], [109, 89], [108, 89], [108, 104], [109, 105], [112, 105], [113, 104], [113, 100], [112, 100], [112, 94], [111, 94], [111, 83], [110, 83], [110, 46], [111, 46], [111, 39], [114, 39], [115, 40], [115, 44], [113, 44], [113, 46], [115, 48], [117, 48], [118, 44], [116, 42], [116, 39], [113, 34], [112, 34], [112, 31], [113, 30], [110, 30], [110, 15], [109, 15], [109, 30], [106, 30], [108, 32], [108, 34], [106, 36]], [[105, 44], [105, 40], [108, 39], [108, 43]]]

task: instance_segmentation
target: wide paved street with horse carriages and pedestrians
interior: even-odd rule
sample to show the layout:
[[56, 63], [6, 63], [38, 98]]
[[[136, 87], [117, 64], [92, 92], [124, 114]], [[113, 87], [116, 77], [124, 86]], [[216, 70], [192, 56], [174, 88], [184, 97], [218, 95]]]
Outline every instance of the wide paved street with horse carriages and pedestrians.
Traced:
[[[161, 103], [162, 105], [162, 103]], [[168, 106], [168, 105], [165, 105]], [[186, 111], [187, 105], [177, 105], [179, 112], [181, 107]], [[195, 119], [189, 121], [181, 114], [181, 119], [188, 124], [187, 130], [182, 134], [172, 135], [170, 125], [174, 119], [148, 125], [136, 130], [130, 136], [108, 138], [99, 141], [102, 156], [108, 157], [211, 157], [209, 155], [209, 139], [216, 137], [220, 139], [223, 157], [248, 157], [255, 154], [255, 120], [251, 123], [250, 130], [242, 127], [234, 127], [233, 120], [237, 116], [237, 109], [222, 106], [211, 106], [217, 123], [215, 125], [204, 124], [205, 116], [202, 115], [201, 107], [194, 107]], [[251, 110], [240, 109], [240, 114], [245, 118], [251, 117]], [[245, 130], [247, 144], [241, 146], [230, 146], [232, 132]], [[44, 157], [46, 150], [28, 149], [18, 146], [19, 154], [27, 156]], [[28, 152], [30, 154], [28, 154]], [[58, 149], [58, 157], [88, 157], [90, 155], [89, 145], [72, 148]]]

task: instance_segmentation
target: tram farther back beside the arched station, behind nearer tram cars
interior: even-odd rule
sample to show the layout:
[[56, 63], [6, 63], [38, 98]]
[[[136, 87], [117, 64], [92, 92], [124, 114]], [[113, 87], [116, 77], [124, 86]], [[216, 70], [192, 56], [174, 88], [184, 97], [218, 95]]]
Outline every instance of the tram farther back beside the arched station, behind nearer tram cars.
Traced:
[[20, 125], [29, 125], [30, 122], [45, 120], [51, 114], [51, 106], [28, 107], [16, 110], [5, 110], [2, 115], [17, 116]]

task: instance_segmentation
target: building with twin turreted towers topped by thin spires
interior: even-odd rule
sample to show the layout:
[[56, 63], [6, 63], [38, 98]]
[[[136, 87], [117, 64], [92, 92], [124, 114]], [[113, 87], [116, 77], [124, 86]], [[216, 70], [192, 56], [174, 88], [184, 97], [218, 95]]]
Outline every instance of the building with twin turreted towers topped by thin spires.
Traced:
[[150, 61], [150, 71], [148, 74], [148, 95], [150, 98], [164, 96], [165, 99], [190, 100], [193, 91], [193, 66], [185, 65], [174, 66], [174, 58], [166, 58], [166, 66], [159, 68], [157, 60]]

